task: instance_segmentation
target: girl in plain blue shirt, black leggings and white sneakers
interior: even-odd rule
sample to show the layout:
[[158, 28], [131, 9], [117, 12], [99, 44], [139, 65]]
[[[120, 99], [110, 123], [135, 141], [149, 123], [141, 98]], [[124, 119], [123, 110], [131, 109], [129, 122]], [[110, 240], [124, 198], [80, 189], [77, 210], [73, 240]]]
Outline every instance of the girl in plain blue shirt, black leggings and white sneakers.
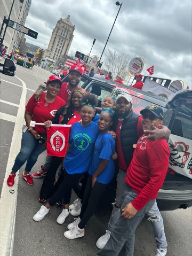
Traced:
[[111, 112], [108, 110], [102, 111], [98, 120], [100, 133], [94, 146], [81, 213], [78, 219], [68, 225], [69, 230], [64, 233], [65, 237], [69, 239], [84, 236], [86, 223], [96, 210], [98, 201], [107, 184], [113, 179], [115, 166], [111, 156], [115, 152], [115, 139], [108, 133], [111, 124]]

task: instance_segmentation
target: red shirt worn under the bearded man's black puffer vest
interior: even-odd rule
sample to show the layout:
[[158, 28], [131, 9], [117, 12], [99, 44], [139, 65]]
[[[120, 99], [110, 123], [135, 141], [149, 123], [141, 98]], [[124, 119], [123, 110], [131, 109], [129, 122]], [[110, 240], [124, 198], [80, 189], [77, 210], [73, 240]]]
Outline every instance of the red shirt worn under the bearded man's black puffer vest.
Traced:
[[[143, 129], [142, 129], [142, 124], [141, 124], [141, 119], [142, 117], [138, 118], [138, 123], [137, 123], [137, 135], [138, 138], [141, 136], [141, 134], [143, 134]], [[122, 150], [122, 144], [121, 144], [121, 127], [122, 127], [122, 123], [123, 120], [119, 120], [117, 123], [117, 128], [116, 128], [116, 138], [117, 138], [117, 154], [118, 154], [118, 167], [120, 169], [126, 170], [127, 166], [126, 166], [126, 162], [125, 162], [125, 158], [124, 158], [124, 154], [123, 154], [123, 150]]]

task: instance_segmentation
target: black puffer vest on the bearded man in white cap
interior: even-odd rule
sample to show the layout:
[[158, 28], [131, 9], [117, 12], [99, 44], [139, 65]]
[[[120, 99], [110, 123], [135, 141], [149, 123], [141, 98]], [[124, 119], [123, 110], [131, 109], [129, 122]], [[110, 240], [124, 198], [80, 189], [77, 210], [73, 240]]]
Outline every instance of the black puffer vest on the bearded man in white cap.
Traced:
[[[138, 118], [140, 115], [134, 113], [132, 110], [129, 112], [129, 114], [126, 116], [126, 118], [123, 121], [122, 128], [121, 128], [121, 144], [122, 144], [122, 150], [124, 154], [124, 159], [126, 162], [127, 168], [130, 165], [131, 159], [133, 157], [133, 144], [137, 143], [138, 141], [138, 135], [137, 135], [137, 123]], [[116, 131], [118, 118], [114, 117], [114, 125], [113, 130]]]

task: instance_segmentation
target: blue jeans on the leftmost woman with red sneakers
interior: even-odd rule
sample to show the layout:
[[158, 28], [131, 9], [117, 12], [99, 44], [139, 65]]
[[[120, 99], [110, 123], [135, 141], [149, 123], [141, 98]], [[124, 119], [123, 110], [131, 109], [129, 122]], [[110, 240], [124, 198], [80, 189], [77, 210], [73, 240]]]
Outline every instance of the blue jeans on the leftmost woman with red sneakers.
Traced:
[[[46, 138], [46, 134], [40, 134], [43, 138]], [[39, 154], [44, 152], [46, 148], [43, 148], [41, 144], [38, 143], [38, 139], [27, 130], [22, 134], [21, 139], [21, 149], [17, 157], [15, 158], [14, 165], [12, 167], [12, 172], [16, 173], [23, 164], [27, 161], [25, 170], [30, 172], [35, 165]]]

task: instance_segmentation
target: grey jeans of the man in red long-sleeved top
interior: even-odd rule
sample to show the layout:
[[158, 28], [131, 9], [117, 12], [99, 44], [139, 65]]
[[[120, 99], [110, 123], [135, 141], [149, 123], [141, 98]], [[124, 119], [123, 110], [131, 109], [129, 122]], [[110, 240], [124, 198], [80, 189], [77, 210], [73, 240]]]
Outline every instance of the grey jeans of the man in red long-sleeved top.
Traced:
[[[129, 185], [126, 186], [122, 197], [121, 212], [123, 208], [131, 203], [136, 197]], [[97, 253], [98, 256], [133, 256], [135, 230], [145, 216], [145, 213], [154, 205], [155, 200], [150, 200], [140, 211], [131, 219], [126, 219], [119, 214], [119, 218], [111, 231], [110, 238], [105, 247]]]

